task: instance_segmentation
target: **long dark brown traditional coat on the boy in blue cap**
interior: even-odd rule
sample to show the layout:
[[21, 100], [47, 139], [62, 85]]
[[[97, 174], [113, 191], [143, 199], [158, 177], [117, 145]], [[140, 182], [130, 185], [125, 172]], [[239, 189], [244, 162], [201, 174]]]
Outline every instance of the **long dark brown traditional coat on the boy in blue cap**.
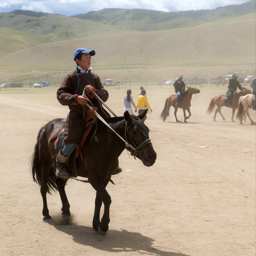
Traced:
[[[68, 106], [69, 109], [72, 109], [77, 104], [76, 97], [78, 95], [82, 95], [84, 87], [89, 84], [96, 89], [95, 93], [102, 99], [102, 101], [106, 102], [109, 94], [102, 86], [99, 76], [94, 73], [80, 73], [77, 70], [69, 73], [60, 88], [57, 90], [58, 101], [62, 105]], [[88, 95], [86, 92], [86, 96], [93, 103], [93, 106], [98, 108], [98, 113], [102, 117], [110, 116], [105, 109], [105, 113], [101, 110], [101, 103], [98, 102], [94, 95]], [[79, 105], [68, 113], [64, 126], [65, 144], [79, 144], [82, 139], [83, 128], [85, 125], [86, 120], [83, 118], [83, 108], [82, 105]]]

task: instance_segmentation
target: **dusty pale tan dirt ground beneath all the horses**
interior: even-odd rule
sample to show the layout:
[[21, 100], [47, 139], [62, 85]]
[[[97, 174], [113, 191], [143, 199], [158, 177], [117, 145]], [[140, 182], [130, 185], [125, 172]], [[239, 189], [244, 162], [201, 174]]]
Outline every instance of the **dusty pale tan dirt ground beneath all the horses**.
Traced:
[[[121, 90], [109, 90], [108, 105], [123, 115]], [[132, 86], [136, 102], [139, 86]], [[192, 97], [188, 123], [176, 123], [173, 108], [159, 115], [173, 86], [147, 86], [153, 113], [145, 124], [157, 152], [146, 167], [124, 151], [123, 172], [113, 176], [110, 223], [105, 237], [92, 227], [95, 191], [90, 184], [68, 181], [72, 225], [61, 221], [59, 193], [48, 195], [52, 222], [42, 216], [39, 186], [29, 158], [42, 125], [66, 117], [57, 87], [0, 91], [0, 255], [80, 256], [252, 256], [255, 255], [255, 125], [205, 115], [210, 99], [226, 87], [201, 87]], [[196, 98], [197, 97], [197, 98]], [[255, 111], [250, 115], [255, 121]], [[183, 121], [182, 110], [178, 119]], [[208, 146], [208, 147], [201, 147]], [[129, 171], [128, 171], [129, 170]]]

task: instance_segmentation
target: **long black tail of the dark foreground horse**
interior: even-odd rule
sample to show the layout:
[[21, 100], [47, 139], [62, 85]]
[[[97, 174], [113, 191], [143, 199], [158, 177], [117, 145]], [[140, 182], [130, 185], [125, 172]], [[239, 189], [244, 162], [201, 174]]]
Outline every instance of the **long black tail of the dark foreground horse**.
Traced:
[[[42, 170], [41, 170], [41, 166], [39, 164], [39, 139], [40, 139], [40, 134], [41, 134], [41, 131], [43, 128], [44, 127], [42, 127], [40, 129], [40, 131], [38, 132], [37, 143], [35, 144], [34, 153], [30, 157], [30, 170], [32, 173], [33, 181], [38, 183], [40, 187], [42, 184], [42, 178], [41, 178]], [[54, 169], [52, 166], [50, 169], [49, 178], [48, 178], [48, 182], [47, 182], [48, 183], [47, 192], [49, 194], [50, 194], [50, 190], [52, 190], [52, 191], [58, 190], [55, 180], [56, 180], [56, 175], [54, 173]]]

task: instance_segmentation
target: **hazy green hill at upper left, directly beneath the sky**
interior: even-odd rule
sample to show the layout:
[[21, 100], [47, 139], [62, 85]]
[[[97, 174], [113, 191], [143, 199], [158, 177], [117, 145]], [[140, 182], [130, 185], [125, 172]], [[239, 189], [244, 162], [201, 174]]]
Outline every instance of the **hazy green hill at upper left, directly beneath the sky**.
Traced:
[[132, 33], [131, 30], [120, 30], [118, 27], [57, 14], [49, 14], [39, 18], [8, 13], [0, 13], [0, 16], [0, 27], [10, 27], [32, 35], [44, 36], [52, 41], [93, 35]]

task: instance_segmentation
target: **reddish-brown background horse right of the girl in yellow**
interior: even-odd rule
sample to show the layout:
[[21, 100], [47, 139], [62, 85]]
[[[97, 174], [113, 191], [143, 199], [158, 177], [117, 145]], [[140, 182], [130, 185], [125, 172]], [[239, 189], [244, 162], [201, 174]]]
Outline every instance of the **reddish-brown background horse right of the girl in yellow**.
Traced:
[[[184, 123], [187, 123], [186, 120], [191, 116], [191, 112], [190, 112], [189, 108], [191, 106], [192, 94], [196, 94], [196, 93], [200, 93], [200, 90], [197, 88], [188, 87], [188, 90], [185, 91], [185, 93], [182, 95], [182, 98], [180, 99], [181, 106], [176, 106], [174, 104], [174, 98], [176, 97], [176, 95], [170, 95], [169, 98], [166, 99], [165, 107], [163, 108], [163, 111], [160, 115], [160, 117], [163, 118], [163, 121], [165, 121], [166, 117], [168, 117], [170, 115], [169, 110], [170, 110], [170, 107], [173, 106], [176, 122], [179, 122], [179, 120], [177, 119], [177, 115], [176, 115], [177, 110], [178, 110], [178, 108], [181, 108], [181, 109], [183, 109], [183, 113], [184, 113]], [[186, 110], [189, 113], [188, 117], [186, 117]]]

